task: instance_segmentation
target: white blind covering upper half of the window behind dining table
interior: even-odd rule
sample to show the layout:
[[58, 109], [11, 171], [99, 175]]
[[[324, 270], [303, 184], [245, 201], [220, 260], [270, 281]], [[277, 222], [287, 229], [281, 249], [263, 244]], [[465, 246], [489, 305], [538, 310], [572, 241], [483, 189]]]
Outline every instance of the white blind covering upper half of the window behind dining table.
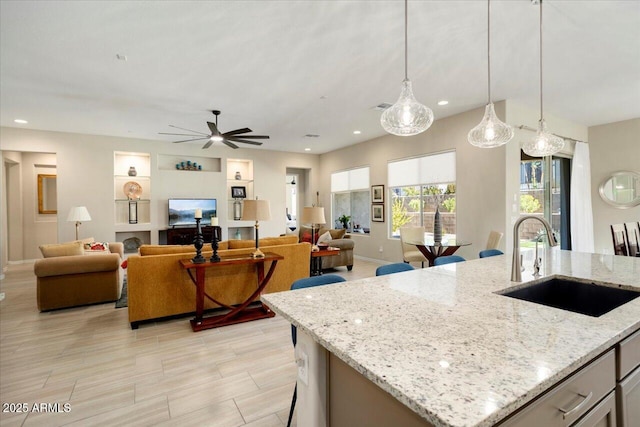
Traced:
[[456, 153], [433, 154], [387, 165], [389, 187], [455, 182]]

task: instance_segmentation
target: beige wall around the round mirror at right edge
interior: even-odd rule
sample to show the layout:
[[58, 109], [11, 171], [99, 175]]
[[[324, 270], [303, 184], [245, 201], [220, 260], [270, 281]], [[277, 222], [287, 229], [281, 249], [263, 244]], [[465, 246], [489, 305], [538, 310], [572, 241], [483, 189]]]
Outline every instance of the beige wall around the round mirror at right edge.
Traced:
[[598, 188], [612, 172], [640, 173], [640, 118], [590, 127], [589, 154], [595, 251], [613, 253], [609, 226], [640, 221], [640, 206], [616, 209], [600, 198]]

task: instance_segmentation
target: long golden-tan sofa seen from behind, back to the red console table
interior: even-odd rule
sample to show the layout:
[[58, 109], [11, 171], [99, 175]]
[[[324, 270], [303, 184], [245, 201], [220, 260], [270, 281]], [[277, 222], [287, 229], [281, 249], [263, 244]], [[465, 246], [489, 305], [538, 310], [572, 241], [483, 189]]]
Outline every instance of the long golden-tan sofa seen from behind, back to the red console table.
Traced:
[[[297, 236], [260, 239], [263, 252], [282, 255], [265, 288], [265, 293], [289, 290], [291, 284], [309, 276], [311, 245], [298, 243]], [[249, 255], [255, 250], [253, 240], [220, 242], [221, 257]], [[211, 245], [203, 256], [211, 257]], [[131, 255], [127, 265], [129, 322], [136, 329], [141, 322], [192, 314], [195, 312], [195, 285], [180, 260], [195, 255], [193, 245], [142, 245], [138, 255]], [[265, 271], [271, 265], [265, 263]], [[205, 291], [214, 299], [233, 305], [244, 302], [256, 289], [254, 265], [229, 265], [206, 271]], [[205, 299], [205, 310], [218, 308]]]

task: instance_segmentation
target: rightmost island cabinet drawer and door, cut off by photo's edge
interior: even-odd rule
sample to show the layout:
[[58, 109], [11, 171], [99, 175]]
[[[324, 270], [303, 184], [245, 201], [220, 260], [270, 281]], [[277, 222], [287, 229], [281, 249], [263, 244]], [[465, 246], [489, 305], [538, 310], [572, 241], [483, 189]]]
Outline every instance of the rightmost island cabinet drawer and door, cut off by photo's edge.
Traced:
[[618, 427], [640, 427], [640, 331], [618, 345]]

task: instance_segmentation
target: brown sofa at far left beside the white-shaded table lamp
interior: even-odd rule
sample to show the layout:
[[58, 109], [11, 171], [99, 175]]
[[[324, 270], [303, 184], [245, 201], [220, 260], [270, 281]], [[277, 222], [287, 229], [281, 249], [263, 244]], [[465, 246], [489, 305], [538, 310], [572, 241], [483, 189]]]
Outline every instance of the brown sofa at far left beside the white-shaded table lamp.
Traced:
[[42, 245], [36, 260], [38, 310], [116, 301], [122, 292], [122, 243], [108, 250], [85, 251], [82, 241]]

